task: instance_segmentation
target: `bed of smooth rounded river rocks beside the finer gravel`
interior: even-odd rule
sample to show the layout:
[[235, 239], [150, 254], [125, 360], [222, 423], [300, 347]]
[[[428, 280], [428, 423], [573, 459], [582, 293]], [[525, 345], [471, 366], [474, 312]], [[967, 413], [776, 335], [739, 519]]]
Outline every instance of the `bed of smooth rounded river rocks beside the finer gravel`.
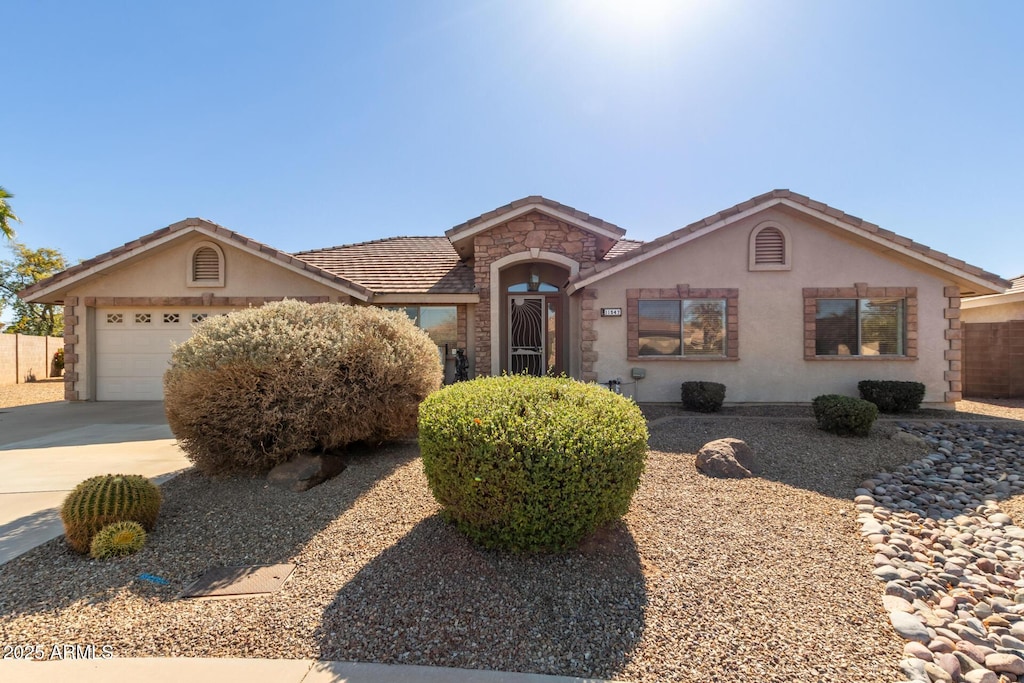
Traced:
[[[1024, 681], [1024, 528], [998, 501], [1024, 492], [1024, 433], [899, 423], [927, 455], [854, 500], [907, 681]], [[905, 437], [904, 437], [905, 438]]]

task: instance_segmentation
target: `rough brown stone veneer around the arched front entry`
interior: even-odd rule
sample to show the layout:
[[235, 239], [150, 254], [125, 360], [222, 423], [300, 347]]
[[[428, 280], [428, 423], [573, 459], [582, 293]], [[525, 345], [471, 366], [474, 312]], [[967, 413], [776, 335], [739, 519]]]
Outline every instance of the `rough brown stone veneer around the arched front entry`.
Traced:
[[[597, 260], [597, 238], [536, 211], [497, 225], [476, 237], [473, 243], [473, 269], [476, 291], [480, 296], [480, 302], [476, 305], [474, 330], [477, 377], [490, 375], [490, 264], [509, 254], [531, 250], [562, 254], [583, 266]], [[543, 260], [543, 257], [538, 260]], [[590, 327], [593, 337], [595, 336], [593, 322]], [[495, 330], [494, 334], [497, 333]], [[593, 351], [595, 340], [589, 341], [592, 342]]]

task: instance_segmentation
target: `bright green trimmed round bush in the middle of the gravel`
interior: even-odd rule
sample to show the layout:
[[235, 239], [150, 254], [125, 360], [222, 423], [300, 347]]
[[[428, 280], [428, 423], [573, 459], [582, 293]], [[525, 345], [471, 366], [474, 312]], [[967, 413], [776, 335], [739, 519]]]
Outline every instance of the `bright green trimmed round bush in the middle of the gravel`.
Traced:
[[486, 548], [559, 551], [626, 514], [647, 454], [636, 403], [567, 378], [446, 387], [420, 407], [442, 515]]

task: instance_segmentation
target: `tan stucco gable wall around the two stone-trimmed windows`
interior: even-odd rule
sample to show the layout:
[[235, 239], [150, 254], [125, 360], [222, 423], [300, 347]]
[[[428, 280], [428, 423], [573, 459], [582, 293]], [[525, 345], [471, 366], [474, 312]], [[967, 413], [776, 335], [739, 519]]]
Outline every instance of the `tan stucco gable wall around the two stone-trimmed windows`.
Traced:
[[[792, 240], [788, 270], [749, 270], [748, 249], [755, 226], [771, 220], [783, 224]], [[804, 358], [804, 288], [916, 288], [918, 358]], [[627, 357], [628, 316], [598, 317], [595, 323], [598, 381], [623, 378], [644, 368], [637, 387], [643, 401], [678, 401], [686, 380], [721, 382], [726, 399], [744, 401], [808, 401], [822, 393], [857, 394], [863, 379], [924, 382], [927, 402], [945, 402], [949, 384], [945, 331], [949, 282], [924, 268], [881, 255], [855, 239], [783, 209], [769, 209], [705, 236], [682, 247], [610, 275], [593, 286], [597, 307], [627, 307], [634, 288], [738, 289], [738, 359], [630, 359]]]

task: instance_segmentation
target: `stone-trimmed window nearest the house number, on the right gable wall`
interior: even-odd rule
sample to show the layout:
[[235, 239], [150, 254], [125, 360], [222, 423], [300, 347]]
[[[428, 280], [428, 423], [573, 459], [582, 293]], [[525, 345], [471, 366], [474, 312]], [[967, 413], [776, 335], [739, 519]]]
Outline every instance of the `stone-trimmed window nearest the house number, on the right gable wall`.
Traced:
[[726, 355], [725, 299], [641, 299], [639, 355]]

